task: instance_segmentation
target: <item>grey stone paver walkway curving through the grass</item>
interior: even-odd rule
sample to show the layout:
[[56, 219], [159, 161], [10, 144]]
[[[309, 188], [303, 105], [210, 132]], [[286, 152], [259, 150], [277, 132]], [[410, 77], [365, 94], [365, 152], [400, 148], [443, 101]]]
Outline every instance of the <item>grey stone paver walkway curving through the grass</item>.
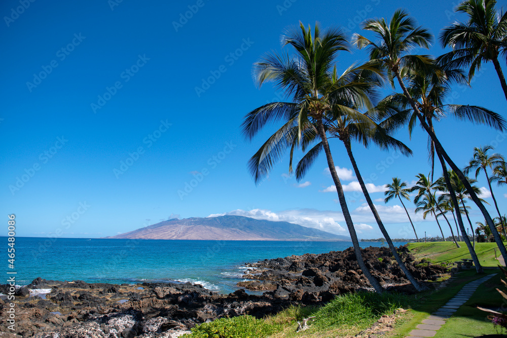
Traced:
[[432, 337], [437, 334], [437, 330], [445, 324], [446, 319], [451, 317], [453, 313], [458, 311], [460, 306], [470, 299], [470, 296], [472, 296], [481, 283], [487, 281], [494, 275], [495, 274], [484, 276], [467, 283], [446, 305], [433, 312], [427, 319], [424, 319], [422, 324], [417, 325], [417, 328], [412, 330], [408, 337]]

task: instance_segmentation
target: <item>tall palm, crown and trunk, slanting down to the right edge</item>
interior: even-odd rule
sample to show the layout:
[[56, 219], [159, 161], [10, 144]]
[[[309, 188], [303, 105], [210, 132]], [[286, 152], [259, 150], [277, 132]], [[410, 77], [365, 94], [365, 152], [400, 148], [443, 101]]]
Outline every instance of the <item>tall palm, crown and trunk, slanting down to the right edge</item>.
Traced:
[[[495, 241], [499, 247], [501, 246], [500, 252], [502, 253], [503, 258], [507, 260], [507, 250], [501, 245], [501, 239], [498, 232], [496, 232], [494, 222], [487, 209], [481, 203], [477, 194], [474, 193], [472, 186], [470, 186], [466, 180], [465, 175], [451, 160], [440, 143], [440, 140], [437, 138], [437, 135], [435, 135], [426, 123], [416, 101], [412, 98], [403, 82], [403, 77], [409, 71], [424, 72], [427, 71], [428, 67], [431, 67], [432, 62], [428, 56], [407, 55], [407, 53], [414, 47], [429, 48], [429, 44], [431, 43], [433, 36], [427, 29], [423, 27], [416, 27], [415, 20], [408, 17], [408, 13], [403, 10], [396, 10], [389, 24], [387, 24], [384, 19], [370, 19], [366, 20], [362, 26], [363, 29], [373, 31], [378, 37], [380, 37], [380, 42], [376, 44], [359, 34], [353, 35], [353, 42], [359, 49], [365, 47], [370, 49], [370, 61], [378, 62], [384, 67], [388, 73], [389, 79], [391, 80], [392, 86], [394, 86], [393, 77], [397, 79], [403, 94], [409, 101], [412, 109], [414, 109], [415, 116], [424, 130], [431, 137], [431, 140], [434, 142], [435, 151], [441, 160], [441, 163], [444, 164], [445, 160], [452, 170], [456, 172], [463, 184], [465, 184], [470, 197], [477, 204], [488, 222], [488, 226], [491, 228]], [[501, 130], [503, 130], [503, 126], [501, 126]], [[444, 167], [445, 166], [443, 165], [443, 171], [446, 172], [447, 168]], [[448, 177], [446, 177], [446, 184], [450, 185]], [[453, 203], [454, 205], [457, 205], [457, 201], [455, 201], [455, 199], [453, 199]], [[469, 242], [467, 243], [467, 246], [470, 249]], [[475, 261], [474, 264], [476, 264]]]

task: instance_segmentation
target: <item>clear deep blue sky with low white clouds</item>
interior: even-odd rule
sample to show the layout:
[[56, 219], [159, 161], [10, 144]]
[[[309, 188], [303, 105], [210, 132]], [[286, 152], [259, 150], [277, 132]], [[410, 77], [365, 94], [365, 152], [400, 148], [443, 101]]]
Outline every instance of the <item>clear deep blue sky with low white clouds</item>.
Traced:
[[[170, 217], [226, 213], [347, 235], [337, 194], [326, 192], [333, 181], [323, 157], [301, 182], [287, 175], [287, 158], [259, 186], [250, 178], [248, 159], [278, 126], [252, 142], [244, 140], [239, 126], [248, 111], [282, 98], [270, 85], [256, 88], [252, 63], [268, 51], [281, 51], [281, 33], [299, 21], [353, 33], [360, 32], [360, 21], [390, 17], [403, 7], [438, 35], [463, 19], [452, 12], [455, 5], [3, 1], [2, 214], [16, 214], [18, 236], [104, 237]], [[420, 53], [440, 55], [442, 49], [434, 44]], [[343, 71], [366, 59], [365, 51], [343, 52], [337, 67]], [[453, 97], [449, 103], [482, 105], [507, 117], [490, 63], [472, 88], [456, 87]], [[507, 155], [507, 135], [484, 126], [450, 119], [438, 123], [436, 132], [460, 166], [475, 146], [492, 144]], [[358, 144], [352, 148], [363, 176], [375, 178], [372, 198], [391, 236], [412, 237], [400, 203], [385, 205], [380, 199], [391, 177], [410, 183], [417, 173], [428, 173], [427, 138], [420, 128], [412, 139], [406, 129], [396, 137], [412, 148], [413, 157]], [[333, 141], [331, 150], [359, 237], [380, 237], [362, 194], [354, 191], [343, 145]], [[483, 175], [478, 185], [487, 186]], [[493, 192], [505, 210], [507, 189], [494, 186]], [[492, 203], [488, 192], [483, 197]], [[413, 212], [414, 205], [406, 205]], [[488, 208], [494, 216], [494, 207]], [[436, 222], [414, 219], [420, 237], [424, 231], [439, 234]], [[482, 220], [477, 208], [472, 220]]]

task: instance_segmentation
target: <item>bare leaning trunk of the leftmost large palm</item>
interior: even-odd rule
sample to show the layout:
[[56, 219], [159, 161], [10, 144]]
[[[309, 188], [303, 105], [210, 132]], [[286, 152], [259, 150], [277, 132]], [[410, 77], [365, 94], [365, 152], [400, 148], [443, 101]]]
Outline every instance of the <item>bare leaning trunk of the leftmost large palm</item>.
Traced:
[[325, 158], [328, 160], [328, 167], [331, 172], [331, 176], [333, 177], [333, 181], [335, 182], [336, 191], [338, 193], [338, 200], [340, 202], [343, 217], [345, 218], [345, 223], [347, 224], [347, 228], [350, 233], [350, 238], [354, 246], [357, 264], [359, 265], [359, 268], [361, 268], [361, 271], [363, 271], [363, 274], [365, 274], [366, 278], [373, 286], [375, 291], [381, 293], [383, 292], [382, 286], [380, 285], [378, 280], [375, 277], [373, 277], [373, 275], [370, 273], [370, 270], [368, 270], [368, 268], [366, 267], [363, 255], [361, 254], [361, 248], [359, 247], [359, 241], [357, 240], [357, 234], [354, 229], [354, 223], [352, 222], [352, 218], [350, 217], [347, 202], [345, 201], [345, 195], [343, 194], [342, 184], [340, 183], [340, 178], [338, 178], [338, 174], [336, 173], [333, 157], [331, 156], [331, 151], [329, 149], [328, 138], [325, 136], [324, 126], [322, 124], [322, 120], [320, 119], [317, 119], [317, 131], [319, 133], [320, 139], [322, 140], [322, 146], [324, 147]]

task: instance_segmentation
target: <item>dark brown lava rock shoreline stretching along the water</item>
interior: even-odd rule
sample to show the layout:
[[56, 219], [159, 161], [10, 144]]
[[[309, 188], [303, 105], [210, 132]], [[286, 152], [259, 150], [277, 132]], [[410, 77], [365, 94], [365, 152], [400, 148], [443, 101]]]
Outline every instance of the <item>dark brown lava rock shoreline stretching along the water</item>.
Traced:
[[[416, 262], [399, 251], [420, 281], [440, 278], [446, 268]], [[388, 289], [413, 292], [387, 248], [366, 248], [367, 266]], [[1, 337], [37, 338], [174, 338], [197, 324], [248, 314], [262, 318], [294, 305], [320, 305], [335, 295], [368, 289], [352, 248], [252, 262], [239, 287], [264, 290], [262, 295], [239, 289], [219, 294], [190, 283], [106, 284], [61, 282], [37, 278], [16, 289], [15, 330], [8, 328], [10, 309], [0, 301]], [[30, 289], [51, 289], [45, 298]], [[9, 285], [0, 285], [7, 294]]]

